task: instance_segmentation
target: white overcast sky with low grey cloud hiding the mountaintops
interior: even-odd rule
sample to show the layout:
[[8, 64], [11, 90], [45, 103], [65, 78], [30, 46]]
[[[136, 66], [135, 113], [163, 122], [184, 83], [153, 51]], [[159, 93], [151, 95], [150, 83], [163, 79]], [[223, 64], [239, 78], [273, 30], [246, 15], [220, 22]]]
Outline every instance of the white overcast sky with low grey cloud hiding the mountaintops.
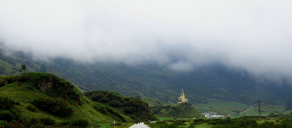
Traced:
[[[4, 1], [0, 41], [35, 59], [222, 63], [292, 76], [291, 1]], [[292, 77], [291, 77], [292, 78]]]

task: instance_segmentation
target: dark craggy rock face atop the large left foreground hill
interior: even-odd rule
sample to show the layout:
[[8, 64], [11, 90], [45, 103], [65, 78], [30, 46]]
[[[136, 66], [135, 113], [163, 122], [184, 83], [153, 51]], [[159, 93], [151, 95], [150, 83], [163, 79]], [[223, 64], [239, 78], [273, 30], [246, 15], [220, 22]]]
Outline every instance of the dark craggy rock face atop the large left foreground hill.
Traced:
[[64, 99], [72, 99], [79, 105], [81, 104], [80, 94], [74, 91], [76, 87], [68, 81], [50, 74], [46, 77], [46, 79], [36, 81], [36, 83], [37, 90], [41, 90], [42, 92], [50, 92], [56, 96], [63, 97]]

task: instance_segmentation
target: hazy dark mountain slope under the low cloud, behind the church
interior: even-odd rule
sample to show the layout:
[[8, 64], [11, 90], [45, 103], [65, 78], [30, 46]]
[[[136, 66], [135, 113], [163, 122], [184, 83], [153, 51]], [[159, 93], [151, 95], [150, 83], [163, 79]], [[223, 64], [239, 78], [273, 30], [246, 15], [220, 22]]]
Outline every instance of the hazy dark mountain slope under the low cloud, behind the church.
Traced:
[[[5, 56], [3, 50], [1, 53], [2, 61], [10, 59], [36, 71], [40, 71], [44, 64], [48, 72], [72, 81], [86, 91], [112, 90], [125, 96], [141, 95], [161, 101], [165, 101], [165, 95], [168, 95], [168, 102], [176, 103], [184, 88], [186, 97], [193, 104], [207, 103], [208, 98], [248, 104], [258, 99], [272, 101], [291, 95], [291, 87], [285, 81], [281, 84], [258, 82], [245, 70], [219, 64], [202, 66], [190, 72], [174, 72], [155, 64], [83, 63], [67, 58], [42, 62], [32, 60], [31, 55], [22, 51], [14, 51], [12, 56]], [[11, 65], [6, 67], [12, 68]]]

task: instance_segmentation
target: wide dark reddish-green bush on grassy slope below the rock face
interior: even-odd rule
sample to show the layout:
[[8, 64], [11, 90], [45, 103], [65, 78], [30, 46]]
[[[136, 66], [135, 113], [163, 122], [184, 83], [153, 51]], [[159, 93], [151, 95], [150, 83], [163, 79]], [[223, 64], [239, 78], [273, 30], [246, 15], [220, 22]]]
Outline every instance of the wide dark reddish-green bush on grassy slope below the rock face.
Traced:
[[72, 108], [68, 106], [65, 100], [58, 99], [58, 97], [39, 97], [37, 99], [34, 99], [34, 101], [31, 103], [34, 104], [36, 107], [39, 107], [40, 109], [43, 109], [55, 115], [69, 115], [74, 112]]

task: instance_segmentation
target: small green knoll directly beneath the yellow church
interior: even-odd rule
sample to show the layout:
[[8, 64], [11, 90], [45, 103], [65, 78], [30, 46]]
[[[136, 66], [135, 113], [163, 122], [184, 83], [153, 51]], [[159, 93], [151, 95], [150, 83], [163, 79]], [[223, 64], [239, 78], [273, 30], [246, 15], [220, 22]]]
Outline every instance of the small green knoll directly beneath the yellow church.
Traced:
[[150, 109], [155, 115], [163, 118], [200, 118], [204, 117], [191, 103], [183, 102], [173, 105], [151, 106]]

